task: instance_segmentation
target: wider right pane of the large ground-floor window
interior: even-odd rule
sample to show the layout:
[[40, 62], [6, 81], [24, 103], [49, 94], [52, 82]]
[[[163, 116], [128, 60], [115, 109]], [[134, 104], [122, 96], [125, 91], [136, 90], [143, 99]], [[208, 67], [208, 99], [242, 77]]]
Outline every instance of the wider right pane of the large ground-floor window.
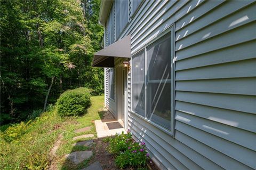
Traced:
[[171, 35], [147, 47], [147, 119], [171, 129]]

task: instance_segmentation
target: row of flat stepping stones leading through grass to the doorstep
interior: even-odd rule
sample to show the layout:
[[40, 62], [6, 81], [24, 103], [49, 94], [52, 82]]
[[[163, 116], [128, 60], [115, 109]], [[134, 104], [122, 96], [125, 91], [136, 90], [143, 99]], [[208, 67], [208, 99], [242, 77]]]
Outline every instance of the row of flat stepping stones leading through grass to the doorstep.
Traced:
[[[84, 128], [80, 128], [80, 129], [76, 129], [75, 133], [81, 133], [81, 132], [87, 132], [90, 131], [91, 127], [84, 127]], [[76, 141], [78, 139], [83, 139], [86, 137], [94, 137], [93, 134], [85, 134], [85, 135], [80, 135], [80, 136], [75, 136], [73, 137], [73, 141]], [[78, 145], [83, 145], [86, 147], [90, 147], [93, 144], [93, 140], [84, 140], [84, 141], [79, 141], [73, 144], [73, 146], [78, 146]], [[67, 154], [65, 157], [66, 159], [70, 160], [71, 162], [73, 162], [74, 164], [79, 164], [82, 163], [84, 160], [89, 159], [90, 157], [92, 157], [93, 152], [90, 150], [86, 150], [86, 151], [76, 151], [76, 152], [72, 152]], [[99, 161], [95, 161], [93, 164], [87, 166], [86, 168], [83, 168], [81, 170], [102, 170], [101, 165], [99, 163]]]

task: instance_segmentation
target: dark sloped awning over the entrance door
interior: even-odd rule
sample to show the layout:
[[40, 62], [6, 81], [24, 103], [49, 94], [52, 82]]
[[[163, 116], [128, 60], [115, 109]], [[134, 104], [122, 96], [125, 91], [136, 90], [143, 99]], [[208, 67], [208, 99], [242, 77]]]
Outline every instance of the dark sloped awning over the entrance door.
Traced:
[[115, 67], [115, 58], [131, 58], [130, 35], [96, 52], [94, 54], [92, 66]]

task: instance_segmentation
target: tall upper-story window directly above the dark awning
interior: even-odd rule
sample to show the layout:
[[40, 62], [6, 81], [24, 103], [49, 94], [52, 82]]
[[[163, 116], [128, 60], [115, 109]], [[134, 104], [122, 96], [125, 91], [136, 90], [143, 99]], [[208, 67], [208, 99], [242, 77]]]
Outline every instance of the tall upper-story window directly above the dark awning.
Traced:
[[116, 18], [116, 39], [120, 36], [129, 21], [129, 4], [128, 0], [115, 1], [115, 18]]

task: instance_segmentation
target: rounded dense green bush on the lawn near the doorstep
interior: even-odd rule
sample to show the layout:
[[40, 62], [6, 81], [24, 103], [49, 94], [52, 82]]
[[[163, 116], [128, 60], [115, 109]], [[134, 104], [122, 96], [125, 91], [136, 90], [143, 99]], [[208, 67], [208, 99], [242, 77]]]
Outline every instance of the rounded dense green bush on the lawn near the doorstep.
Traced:
[[60, 116], [82, 115], [91, 105], [89, 89], [80, 87], [68, 90], [57, 100], [57, 109]]

